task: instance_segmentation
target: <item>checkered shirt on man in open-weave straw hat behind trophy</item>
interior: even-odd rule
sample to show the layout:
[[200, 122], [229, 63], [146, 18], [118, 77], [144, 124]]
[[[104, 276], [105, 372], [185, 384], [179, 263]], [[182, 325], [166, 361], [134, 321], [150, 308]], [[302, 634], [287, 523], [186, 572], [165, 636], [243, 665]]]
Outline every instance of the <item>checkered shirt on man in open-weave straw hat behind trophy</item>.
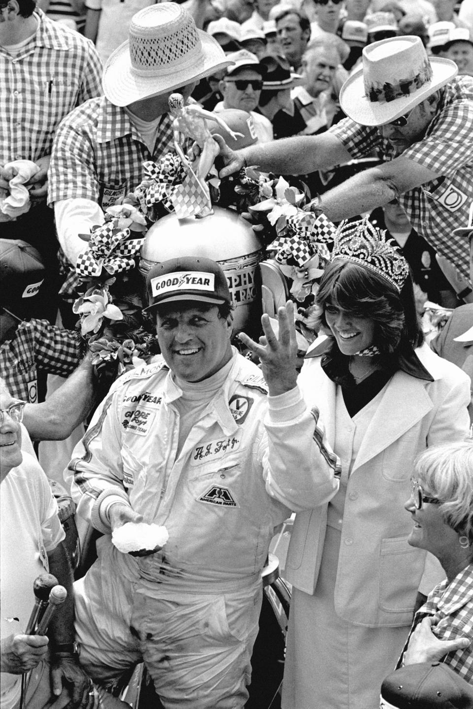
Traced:
[[84, 198], [102, 209], [121, 203], [142, 181], [143, 162], [174, 150], [172, 123], [164, 113], [150, 153], [123, 108], [104, 96], [76, 108], [57, 129], [49, 174], [48, 203]]

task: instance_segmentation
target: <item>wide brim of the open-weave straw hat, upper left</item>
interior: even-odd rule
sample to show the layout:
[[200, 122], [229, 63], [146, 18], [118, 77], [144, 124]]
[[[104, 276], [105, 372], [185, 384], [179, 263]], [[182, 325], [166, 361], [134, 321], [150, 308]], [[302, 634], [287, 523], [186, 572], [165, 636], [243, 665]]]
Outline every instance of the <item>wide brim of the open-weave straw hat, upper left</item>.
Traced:
[[138, 76], [133, 72], [130, 63], [129, 41], [123, 42], [108, 57], [102, 74], [102, 88], [108, 101], [114, 106], [128, 106], [135, 101], [160, 96], [168, 91], [175, 91], [208, 77], [213, 72], [226, 69], [233, 64], [223, 53], [221, 46], [216, 40], [203, 30], [197, 30], [201, 39], [201, 55], [191, 67], [185, 69], [172, 69], [168, 74], [163, 74], [160, 69], [159, 74], [148, 74], [148, 76]]

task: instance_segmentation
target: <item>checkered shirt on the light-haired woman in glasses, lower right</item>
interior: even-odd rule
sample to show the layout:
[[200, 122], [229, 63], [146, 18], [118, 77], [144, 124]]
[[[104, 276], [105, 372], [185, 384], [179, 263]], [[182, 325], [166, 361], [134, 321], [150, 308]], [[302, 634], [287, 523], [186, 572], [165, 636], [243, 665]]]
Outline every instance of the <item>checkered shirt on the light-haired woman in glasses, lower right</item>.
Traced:
[[[445, 579], [429, 593], [427, 601], [414, 617], [398, 666], [402, 664], [413, 631], [428, 615], [433, 619], [433, 633], [439, 640], [473, 638], [473, 564], [460, 571], [451, 584]], [[473, 643], [464, 649], [449, 652], [442, 661], [473, 684]]]

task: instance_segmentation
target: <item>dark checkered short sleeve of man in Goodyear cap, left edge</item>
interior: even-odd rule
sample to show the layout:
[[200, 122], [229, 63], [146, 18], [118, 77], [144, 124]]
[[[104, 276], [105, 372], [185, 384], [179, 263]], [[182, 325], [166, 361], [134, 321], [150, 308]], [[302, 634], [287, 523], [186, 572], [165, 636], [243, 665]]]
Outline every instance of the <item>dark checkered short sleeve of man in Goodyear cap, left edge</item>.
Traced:
[[80, 362], [79, 333], [50, 325], [48, 320], [30, 320], [38, 369], [69, 376]]

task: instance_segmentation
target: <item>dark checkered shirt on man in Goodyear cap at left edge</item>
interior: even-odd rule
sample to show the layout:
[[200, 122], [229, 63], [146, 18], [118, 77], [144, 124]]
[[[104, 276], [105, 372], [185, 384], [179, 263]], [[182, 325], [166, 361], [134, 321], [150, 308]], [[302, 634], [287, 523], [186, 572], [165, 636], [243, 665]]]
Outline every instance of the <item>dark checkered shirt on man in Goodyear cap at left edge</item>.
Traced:
[[0, 376], [11, 396], [38, 401], [38, 370], [69, 376], [80, 362], [79, 332], [50, 325], [48, 320], [23, 320], [16, 335], [0, 347]]

